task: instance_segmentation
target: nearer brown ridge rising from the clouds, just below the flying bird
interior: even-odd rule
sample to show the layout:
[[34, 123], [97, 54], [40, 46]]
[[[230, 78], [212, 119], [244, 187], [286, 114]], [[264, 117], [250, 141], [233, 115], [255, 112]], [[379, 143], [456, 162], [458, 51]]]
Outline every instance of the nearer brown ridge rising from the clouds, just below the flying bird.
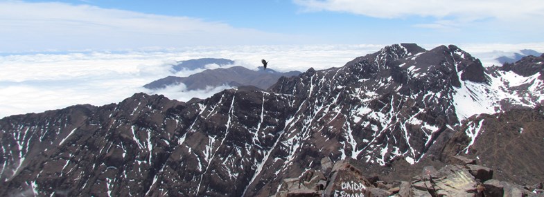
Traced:
[[279, 77], [290, 77], [299, 74], [300, 72], [298, 71], [288, 73], [279, 73], [272, 69], [267, 69], [266, 71], [252, 71], [243, 66], [234, 66], [230, 68], [206, 70], [188, 77], [168, 76], [146, 84], [143, 87], [148, 89], [160, 89], [166, 88], [166, 86], [184, 84], [186, 86], [186, 91], [192, 91], [221, 85], [252, 85], [261, 89], [266, 89], [276, 83]]

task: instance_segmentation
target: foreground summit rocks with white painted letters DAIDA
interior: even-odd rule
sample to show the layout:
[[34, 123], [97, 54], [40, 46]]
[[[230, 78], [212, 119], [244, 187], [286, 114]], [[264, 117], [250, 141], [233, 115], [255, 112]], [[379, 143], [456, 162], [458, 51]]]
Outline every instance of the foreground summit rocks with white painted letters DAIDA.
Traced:
[[[421, 175], [410, 181], [388, 183], [379, 177], [365, 177], [349, 161], [340, 160], [328, 174], [308, 170], [298, 178], [284, 179], [274, 196], [544, 196], [544, 184], [524, 187], [495, 180], [493, 169], [475, 165], [475, 160], [463, 156], [453, 156], [450, 161], [455, 164], [439, 170], [424, 167]], [[324, 164], [329, 164], [326, 158], [322, 160]]]

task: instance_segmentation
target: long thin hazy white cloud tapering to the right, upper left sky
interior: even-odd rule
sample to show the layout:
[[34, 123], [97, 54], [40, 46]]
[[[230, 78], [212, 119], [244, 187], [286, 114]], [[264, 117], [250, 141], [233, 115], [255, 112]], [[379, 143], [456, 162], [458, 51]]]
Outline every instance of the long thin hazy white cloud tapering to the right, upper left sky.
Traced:
[[[0, 1], [0, 52], [286, 43], [304, 39], [191, 17]], [[225, 39], [228, 37], [229, 39]]]

